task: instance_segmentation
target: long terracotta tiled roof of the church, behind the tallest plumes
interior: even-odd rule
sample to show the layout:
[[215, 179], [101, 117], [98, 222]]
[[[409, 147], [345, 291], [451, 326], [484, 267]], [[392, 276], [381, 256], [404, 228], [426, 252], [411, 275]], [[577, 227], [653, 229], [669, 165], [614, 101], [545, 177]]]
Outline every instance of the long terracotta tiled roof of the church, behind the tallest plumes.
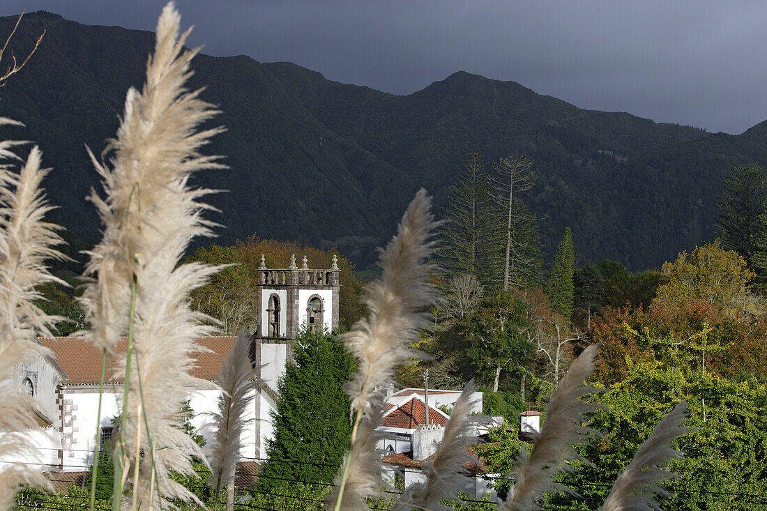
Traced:
[[[55, 337], [39, 338], [41, 345], [54, 352], [54, 358], [66, 374], [64, 384], [87, 385], [97, 384], [101, 379], [101, 353], [83, 338]], [[223, 360], [229, 355], [235, 343], [235, 337], [219, 335], [196, 339], [197, 344], [209, 351], [199, 351], [193, 356], [197, 359], [191, 374], [203, 380], [214, 381], [219, 377]], [[117, 352], [124, 353], [127, 339], [117, 343]], [[122, 379], [112, 377], [114, 374], [114, 357], [107, 357], [107, 381], [112, 384], [122, 383]]]

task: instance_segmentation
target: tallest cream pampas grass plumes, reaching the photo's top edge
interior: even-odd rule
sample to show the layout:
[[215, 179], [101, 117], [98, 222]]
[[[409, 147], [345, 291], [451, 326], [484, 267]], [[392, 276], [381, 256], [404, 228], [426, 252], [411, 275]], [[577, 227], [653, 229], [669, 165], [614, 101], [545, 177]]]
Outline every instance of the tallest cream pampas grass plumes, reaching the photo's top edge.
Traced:
[[[204, 460], [177, 424], [192, 389], [215, 387], [189, 374], [191, 355], [201, 349], [194, 339], [214, 328], [202, 325], [207, 318], [189, 308], [188, 298], [218, 269], [178, 264], [191, 239], [211, 235], [212, 223], [202, 219], [209, 206], [199, 202], [210, 190], [189, 187], [189, 176], [222, 167], [216, 157], [199, 153], [221, 130], [197, 130], [216, 112], [199, 99], [199, 91], [184, 88], [198, 51], [184, 50], [188, 34], [179, 35], [179, 15], [167, 5], [146, 65], [146, 84], [141, 92], [128, 91], [117, 138], [105, 151], [109, 160], [92, 157], [104, 180], [104, 198], [91, 194], [104, 238], [90, 252], [86, 273], [94, 279], [81, 302], [97, 347], [114, 351], [120, 335], [130, 330], [130, 348], [117, 374], [125, 388], [114, 505], [125, 499], [137, 509], [163, 508], [168, 499], [199, 502], [170, 473], [193, 476], [191, 457]], [[131, 467], [134, 477], [128, 482]], [[123, 493], [126, 483], [133, 491]]]

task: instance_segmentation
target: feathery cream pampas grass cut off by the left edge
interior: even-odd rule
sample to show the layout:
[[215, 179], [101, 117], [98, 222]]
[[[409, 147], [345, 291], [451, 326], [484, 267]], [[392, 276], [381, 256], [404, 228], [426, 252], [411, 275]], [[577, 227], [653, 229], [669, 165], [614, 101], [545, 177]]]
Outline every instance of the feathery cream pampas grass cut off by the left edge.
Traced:
[[[2, 124], [19, 124], [0, 118]], [[45, 203], [41, 181], [48, 170], [41, 169], [41, 153], [33, 147], [20, 173], [9, 160], [23, 162], [12, 152], [20, 142], [0, 141], [0, 457], [16, 460], [4, 463], [0, 471], [0, 509], [15, 505], [22, 484], [51, 488], [51, 483], [24, 463], [37, 451], [31, 434], [40, 432], [35, 400], [21, 391], [18, 365], [51, 357], [36, 335], [50, 336], [49, 327], [61, 318], [46, 315], [35, 305], [43, 297], [36, 286], [46, 282], [66, 285], [48, 271], [47, 259], [64, 259], [53, 247], [61, 244], [58, 226], [44, 222], [52, 209]]]

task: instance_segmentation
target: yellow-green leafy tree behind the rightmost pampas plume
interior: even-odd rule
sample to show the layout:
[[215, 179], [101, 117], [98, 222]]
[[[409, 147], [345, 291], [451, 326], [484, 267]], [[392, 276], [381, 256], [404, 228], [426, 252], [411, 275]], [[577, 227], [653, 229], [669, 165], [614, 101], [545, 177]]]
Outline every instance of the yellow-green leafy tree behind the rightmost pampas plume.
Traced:
[[[685, 426], [696, 430], [676, 440], [676, 449], [684, 457], [668, 466], [679, 479], [668, 485], [671, 495], [660, 500], [661, 508], [762, 509], [752, 507], [748, 495], [763, 493], [767, 473], [765, 399], [767, 388], [754, 380], [736, 383], [712, 374], [680, 371], [661, 361], [635, 364], [624, 381], [597, 398], [606, 409], [594, 415], [591, 427], [604, 437], [581, 451], [594, 466], [574, 466], [564, 482], [586, 502], [604, 502], [612, 482], [653, 427], [686, 400]], [[552, 503], [584, 509], [571, 497], [560, 496]]]

